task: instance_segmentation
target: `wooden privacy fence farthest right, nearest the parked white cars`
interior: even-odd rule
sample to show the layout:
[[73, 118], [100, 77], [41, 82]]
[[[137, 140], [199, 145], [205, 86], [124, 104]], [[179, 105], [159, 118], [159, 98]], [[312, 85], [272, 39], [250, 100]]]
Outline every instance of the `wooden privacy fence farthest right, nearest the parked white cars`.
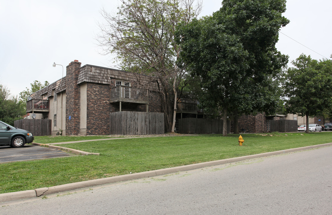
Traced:
[[297, 120], [268, 120], [267, 126], [267, 131], [270, 132], [297, 132]]

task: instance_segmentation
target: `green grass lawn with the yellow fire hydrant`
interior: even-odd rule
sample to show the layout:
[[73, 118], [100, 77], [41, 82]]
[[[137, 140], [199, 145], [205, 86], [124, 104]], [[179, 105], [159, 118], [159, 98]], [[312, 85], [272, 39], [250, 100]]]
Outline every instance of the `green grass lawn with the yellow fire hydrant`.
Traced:
[[[301, 135], [303, 134], [303, 135]], [[1, 164], [0, 193], [49, 187], [263, 152], [332, 142], [332, 132], [148, 137], [61, 144], [100, 155], [72, 156]], [[93, 136], [96, 137], [96, 136]], [[103, 137], [103, 136], [101, 136]], [[104, 136], [109, 138], [109, 136]], [[74, 141], [72, 137], [36, 137], [36, 142]], [[85, 140], [90, 136], [74, 137]], [[69, 140], [70, 139], [70, 140]], [[46, 141], [46, 140], [44, 140]], [[42, 143], [47, 143], [42, 142]]]

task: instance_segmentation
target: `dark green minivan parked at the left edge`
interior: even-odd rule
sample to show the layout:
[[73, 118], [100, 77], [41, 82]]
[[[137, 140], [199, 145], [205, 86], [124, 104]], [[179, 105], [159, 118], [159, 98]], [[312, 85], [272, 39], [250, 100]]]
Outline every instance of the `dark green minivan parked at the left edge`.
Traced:
[[34, 136], [30, 131], [13, 127], [0, 121], [0, 145], [11, 145], [18, 148], [26, 143], [31, 143]]

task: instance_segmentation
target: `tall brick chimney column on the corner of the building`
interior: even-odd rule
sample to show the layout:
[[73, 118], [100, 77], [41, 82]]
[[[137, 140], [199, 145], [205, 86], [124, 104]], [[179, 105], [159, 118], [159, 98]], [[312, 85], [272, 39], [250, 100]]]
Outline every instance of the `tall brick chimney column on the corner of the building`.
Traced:
[[66, 68], [66, 135], [80, 134], [80, 87], [77, 85], [80, 68], [77, 60]]

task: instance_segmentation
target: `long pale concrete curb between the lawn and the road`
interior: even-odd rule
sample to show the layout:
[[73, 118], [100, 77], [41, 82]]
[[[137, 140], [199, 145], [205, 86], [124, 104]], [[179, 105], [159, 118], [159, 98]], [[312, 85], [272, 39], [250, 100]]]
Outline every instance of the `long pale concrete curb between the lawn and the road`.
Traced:
[[[209, 162], [204, 162], [204, 163], [195, 163], [195, 164], [171, 167], [171, 168], [166, 168], [166, 169], [151, 170], [151, 171], [147, 171], [147, 172], [139, 172], [139, 173], [133, 173], [133, 174], [129, 174], [129, 175], [119, 175], [119, 176], [114, 176], [114, 177], [109, 177], [109, 178], [100, 178], [100, 179], [94, 179], [94, 180], [89, 180], [89, 181], [81, 181], [81, 182], [57, 185], [57, 186], [52, 186], [52, 187], [43, 187], [43, 188], [37, 188], [34, 190], [25, 190], [25, 191], [18, 191], [18, 192], [12, 192], [12, 193], [2, 193], [2, 194], [0, 194], [0, 202], [39, 197], [39, 196], [43, 196], [43, 195], [65, 192], [65, 191], [75, 190], [75, 189], [79, 189], [79, 188], [92, 187], [92, 186], [96, 186], [96, 185], [109, 184], [109, 183], [115, 183], [115, 182], [120, 182], [120, 181], [128, 181], [128, 180], [134, 180], [134, 179], [139, 179], [139, 178], [153, 177], [153, 176], [157, 176], [157, 175], [164, 175], [164, 174], [169, 174], [169, 173], [174, 173], [174, 172], [179, 172], [179, 171], [199, 169], [199, 168], [203, 168], [203, 167], [215, 166], [215, 165], [220, 165], [220, 164], [224, 164], [224, 163], [232, 163], [232, 162], [237, 162], [237, 161], [242, 161], [242, 160], [247, 160], [247, 159], [252, 159], [252, 158], [266, 157], [266, 156], [290, 153], [290, 152], [295, 152], [295, 151], [303, 151], [303, 150], [320, 148], [320, 147], [325, 147], [325, 146], [330, 146], [330, 145], [332, 145], [332, 143], [324, 143], [324, 144], [319, 144], [319, 145], [291, 148], [291, 149], [285, 149], [285, 150], [280, 150], [280, 151], [253, 154], [253, 155], [247, 155], [247, 156], [242, 156], [242, 157], [234, 157], [234, 158], [223, 159], [223, 160], [215, 160], [215, 161], [209, 161]], [[79, 151], [79, 150], [77, 150], [77, 151]]]

